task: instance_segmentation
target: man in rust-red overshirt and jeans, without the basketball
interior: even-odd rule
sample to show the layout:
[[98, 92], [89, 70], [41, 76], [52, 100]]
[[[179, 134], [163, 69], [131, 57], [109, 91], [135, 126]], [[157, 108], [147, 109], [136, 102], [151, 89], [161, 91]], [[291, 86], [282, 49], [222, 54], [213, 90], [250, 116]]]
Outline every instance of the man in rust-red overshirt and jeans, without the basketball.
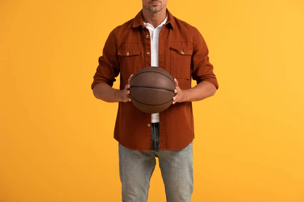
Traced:
[[[167, 0], [142, 0], [136, 17], [111, 31], [91, 86], [96, 98], [119, 102], [114, 138], [119, 142], [125, 202], [147, 201], [156, 157], [167, 201], [191, 201], [192, 102], [214, 95], [218, 88], [203, 36], [166, 6]], [[172, 105], [157, 114], [139, 111], [129, 97], [132, 75], [149, 66], [167, 70], [176, 83]], [[120, 90], [113, 89], [119, 74]], [[197, 81], [193, 88], [192, 79]]]

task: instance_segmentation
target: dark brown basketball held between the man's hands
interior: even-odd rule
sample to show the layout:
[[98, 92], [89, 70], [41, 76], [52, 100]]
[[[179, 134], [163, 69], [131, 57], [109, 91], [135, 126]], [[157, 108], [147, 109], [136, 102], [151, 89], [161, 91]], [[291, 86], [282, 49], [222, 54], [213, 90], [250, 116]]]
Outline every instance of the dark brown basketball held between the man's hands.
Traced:
[[175, 83], [169, 72], [159, 67], [146, 67], [132, 77], [130, 98], [142, 112], [159, 113], [172, 104], [174, 89]]

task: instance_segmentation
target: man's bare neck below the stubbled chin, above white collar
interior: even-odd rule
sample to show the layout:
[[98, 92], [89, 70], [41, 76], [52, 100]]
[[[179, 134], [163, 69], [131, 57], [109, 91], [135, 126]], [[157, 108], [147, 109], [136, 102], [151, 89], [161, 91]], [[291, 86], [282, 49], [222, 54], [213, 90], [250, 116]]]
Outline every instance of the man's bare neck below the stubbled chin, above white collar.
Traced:
[[158, 13], [151, 13], [147, 9], [142, 10], [143, 21], [145, 23], [151, 24], [153, 27], [158, 27], [166, 18], [167, 10], [164, 7]]

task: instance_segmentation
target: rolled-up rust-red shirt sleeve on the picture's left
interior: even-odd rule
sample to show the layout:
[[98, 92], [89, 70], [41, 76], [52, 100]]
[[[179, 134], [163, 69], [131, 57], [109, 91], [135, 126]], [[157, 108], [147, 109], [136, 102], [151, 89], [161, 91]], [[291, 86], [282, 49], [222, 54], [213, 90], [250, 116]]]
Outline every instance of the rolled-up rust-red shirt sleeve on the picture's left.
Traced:
[[93, 76], [91, 88], [98, 83], [106, 83], [113, 86], [116, 77], [120, 73], [119, 59], [117, 55], [117, 43], [115, 33], [117, 28], [113, 29], [105, 41], [102, 56], [98, 59], [98, 66]]

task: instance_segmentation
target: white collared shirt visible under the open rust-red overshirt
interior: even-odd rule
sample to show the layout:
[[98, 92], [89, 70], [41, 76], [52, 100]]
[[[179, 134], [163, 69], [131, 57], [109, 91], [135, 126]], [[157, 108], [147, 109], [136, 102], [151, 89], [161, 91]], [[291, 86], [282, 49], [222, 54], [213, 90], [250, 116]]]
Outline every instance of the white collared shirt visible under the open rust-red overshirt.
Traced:
[[[159, 63], [159, 54], [158, 54], [158, 47], [159, 47], [159, 34], [164, 24], [166, 24], [168, 20], [168, 14], [165, 18], [165, 20], [157, 27], [154, 28], [153, 25], [149, 23], [143, 22], [144, 26], [149, 30], [150, 32], [150, 40], [151, 40], [151, 66], [158, 67]], [[151, 114], [151, 123], [158, 123], [160, 122], [160, 114]]]

